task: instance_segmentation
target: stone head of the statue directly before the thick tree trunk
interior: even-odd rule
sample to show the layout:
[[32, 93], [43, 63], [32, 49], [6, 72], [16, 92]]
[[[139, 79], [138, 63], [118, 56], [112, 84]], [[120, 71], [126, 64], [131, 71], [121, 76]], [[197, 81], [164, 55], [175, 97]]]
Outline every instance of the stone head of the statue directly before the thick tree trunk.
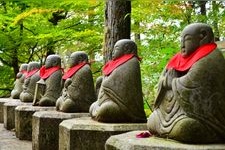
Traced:
[[124, 54], [137, 55], [137, 45], [130, 39], [122, 39], [116, 42], [112, 52], [112, 58], [116, 59]]

